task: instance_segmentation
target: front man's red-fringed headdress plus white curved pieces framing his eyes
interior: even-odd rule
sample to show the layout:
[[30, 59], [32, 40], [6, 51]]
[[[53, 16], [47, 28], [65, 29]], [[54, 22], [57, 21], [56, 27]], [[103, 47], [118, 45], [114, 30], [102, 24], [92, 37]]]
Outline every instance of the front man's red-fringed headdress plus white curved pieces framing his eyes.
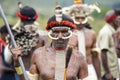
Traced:
[[49, 31], [48, 36], [51, 39], [58, 39], [58, 37], [53, 37], [51, 36], [52, 34], [52, 28], [54, 27], [65, 27], [68, 28], [68, 34], [65, 37], [62, 37], [63, 39], [68, 39], [69, 37], [72, 36], [72, 31], [70, 29], [76, 29], [76, 25], [74, 24], [73, 20], [62, 13], [62, 8], [60, 5], [56, 5], [55, 7], [55, 15], [53, 15], [47, 23], [46, 30]]

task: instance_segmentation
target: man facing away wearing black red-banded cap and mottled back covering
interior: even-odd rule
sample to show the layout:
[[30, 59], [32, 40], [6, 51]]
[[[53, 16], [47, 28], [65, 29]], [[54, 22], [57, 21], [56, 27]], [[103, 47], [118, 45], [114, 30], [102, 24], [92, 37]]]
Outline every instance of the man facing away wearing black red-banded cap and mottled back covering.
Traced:
[[[14, 38], [17, 46], [22, 47], [22, 59], [25, 65], [25, 69], [30, 68], [30, 59], [33, 51], [45, 45], [44, 36], [39, 34], [39, 30], [33, 24], [38, 18], [38, 14], [35, 9], [29, 6], [24, 6], [17, 12], [18, 17], [21, 19], [21, 25], [16, 27]], [[11, 49], [13, 48], [11, 40], [8, 39], [8, 46], [5, 48], [5, 61], [7, 63], [13, 63]], [[26, 63], [27, 62], [27, 63]]]

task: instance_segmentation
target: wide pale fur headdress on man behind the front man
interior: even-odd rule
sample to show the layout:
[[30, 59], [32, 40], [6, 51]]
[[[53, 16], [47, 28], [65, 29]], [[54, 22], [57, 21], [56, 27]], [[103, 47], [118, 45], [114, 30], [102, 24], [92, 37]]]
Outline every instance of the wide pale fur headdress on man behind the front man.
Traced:
[[70, 7], [63, 8], [63, 13], [68, 13], [71, 17], [87, 17], [89, 16], [94, 10], [97, 10], [98, 13], [101, 10], [97, 7], [97, 3], [93, 5], [87, 4], [74, 4]]

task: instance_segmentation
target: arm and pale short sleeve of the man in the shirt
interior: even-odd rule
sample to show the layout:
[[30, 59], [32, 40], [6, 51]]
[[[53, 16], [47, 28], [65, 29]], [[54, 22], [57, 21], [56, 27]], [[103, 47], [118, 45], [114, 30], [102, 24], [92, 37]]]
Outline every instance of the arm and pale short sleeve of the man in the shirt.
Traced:
[[113, 80], [112, 74], [109, 70], [108, 56], [107, 56], [107, 54], [109, 54], [107, 52], [109, 50], [109, 44], [110, 44], [109, 40], [110, 40], [110, 38], [111, 38], [111, 35], [104, 32], [104, 33], [99, 34], [99, 40], [98, 40], [99, 48], [101, 49], [101, 60], [102, 60], [101, 65], [103, 66], [103, 68], [105, 70], [104, 75], [105, 75], [107, 80], [109, 80], [109, 79]]

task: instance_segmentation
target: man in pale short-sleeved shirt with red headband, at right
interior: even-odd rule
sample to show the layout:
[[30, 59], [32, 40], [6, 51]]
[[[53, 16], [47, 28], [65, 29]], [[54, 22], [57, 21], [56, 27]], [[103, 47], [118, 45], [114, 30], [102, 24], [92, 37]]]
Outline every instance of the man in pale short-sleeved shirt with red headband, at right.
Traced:
[[105, 14], [106, 24], [98, 35], [98, 46], [101, 49], [101, 72], [103, 80], [119, 80], [119, 69], [113, 33], [117, 30], [117, 15], [114, 10], [109, 10]]

